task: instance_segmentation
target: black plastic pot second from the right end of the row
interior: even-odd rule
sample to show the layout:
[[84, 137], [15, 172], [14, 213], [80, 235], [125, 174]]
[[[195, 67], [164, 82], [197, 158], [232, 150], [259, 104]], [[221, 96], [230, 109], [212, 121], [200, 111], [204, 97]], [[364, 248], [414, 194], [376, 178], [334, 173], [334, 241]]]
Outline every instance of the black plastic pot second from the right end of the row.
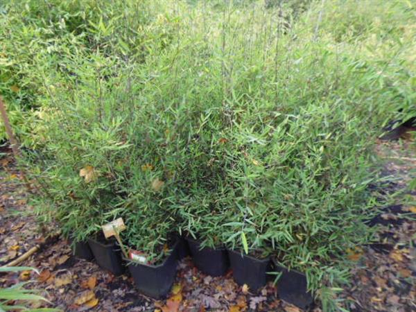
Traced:
[[266, 285], [270, 270], [270, 258], [257, 259], [239, 251], [228, 250], [232, 275], [237, 284], [247, 284], [252, 290]]

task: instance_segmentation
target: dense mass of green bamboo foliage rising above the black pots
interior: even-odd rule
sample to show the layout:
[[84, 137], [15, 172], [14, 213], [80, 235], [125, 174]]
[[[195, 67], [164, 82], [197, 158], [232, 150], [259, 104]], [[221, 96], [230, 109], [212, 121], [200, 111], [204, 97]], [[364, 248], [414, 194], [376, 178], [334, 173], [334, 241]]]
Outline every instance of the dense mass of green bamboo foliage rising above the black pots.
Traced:
[[10, 1], [1, 92], [40, 220], [82, 241], [122, 217], [153, 263], [173, 232], [261, 252], [337, 309], [374, 141], [415, 114], [405, 2]]

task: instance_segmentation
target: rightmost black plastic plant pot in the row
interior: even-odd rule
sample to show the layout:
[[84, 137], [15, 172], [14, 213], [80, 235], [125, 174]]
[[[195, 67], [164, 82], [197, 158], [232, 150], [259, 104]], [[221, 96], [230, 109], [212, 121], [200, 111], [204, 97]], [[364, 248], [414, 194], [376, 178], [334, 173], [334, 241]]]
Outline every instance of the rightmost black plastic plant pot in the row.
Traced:
[[276, 263], [275, 271], [281, 272], [277, 280], [279, 298], [301, 309], [310, 309], [313, 305], [313, 296], [307, 291], [306, 275], [296, 270], [287, 270]]

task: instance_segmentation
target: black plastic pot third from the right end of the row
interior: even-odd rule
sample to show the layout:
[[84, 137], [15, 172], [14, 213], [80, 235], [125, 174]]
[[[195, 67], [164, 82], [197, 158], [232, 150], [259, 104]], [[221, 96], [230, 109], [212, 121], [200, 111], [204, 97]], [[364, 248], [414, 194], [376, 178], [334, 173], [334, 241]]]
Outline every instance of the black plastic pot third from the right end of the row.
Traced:
[[201, 248], [200, 243], [187, 238], [189, 251], [195, 266], [211, 276], [225, 275], [229, 268], [229, 259], [225, 248]]

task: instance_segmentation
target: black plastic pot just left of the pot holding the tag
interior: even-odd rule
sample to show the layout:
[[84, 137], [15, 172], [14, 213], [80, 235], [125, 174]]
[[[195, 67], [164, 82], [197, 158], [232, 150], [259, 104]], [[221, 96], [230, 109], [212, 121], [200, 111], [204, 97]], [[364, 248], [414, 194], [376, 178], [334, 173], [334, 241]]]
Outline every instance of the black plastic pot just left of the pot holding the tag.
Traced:
[[89, 248], [98, 263], [98, 266], [109, 270], [114, 275], [121, 275], [124, 272], [124, 266], [121, 261], [121, 251], [115, 242], [107, 241], [101, 243], [95, 239], [88, 239]]

